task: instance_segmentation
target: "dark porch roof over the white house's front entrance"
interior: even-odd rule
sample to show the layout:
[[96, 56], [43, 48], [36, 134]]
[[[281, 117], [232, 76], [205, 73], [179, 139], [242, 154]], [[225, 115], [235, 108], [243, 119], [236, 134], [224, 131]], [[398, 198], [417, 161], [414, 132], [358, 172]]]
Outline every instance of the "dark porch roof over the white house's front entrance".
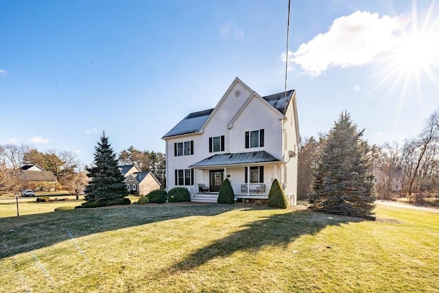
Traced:
[[251, 163], [269, 163], [280, 161], [274, 156], [261, 150], [259, 152], [241, 152], [238, 154], [215, 154], [189, 167], [208, 167], [224, 165], [240, 165]]

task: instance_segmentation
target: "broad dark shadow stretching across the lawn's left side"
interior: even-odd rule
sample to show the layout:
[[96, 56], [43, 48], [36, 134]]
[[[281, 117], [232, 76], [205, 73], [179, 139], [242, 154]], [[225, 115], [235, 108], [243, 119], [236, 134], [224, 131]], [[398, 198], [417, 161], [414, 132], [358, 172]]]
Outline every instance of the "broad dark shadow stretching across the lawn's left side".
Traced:
[[147, 204], [1, 218], [0, 259], [94, 233], [189, 216], [219, 215], [233, 209], [233, 204]]

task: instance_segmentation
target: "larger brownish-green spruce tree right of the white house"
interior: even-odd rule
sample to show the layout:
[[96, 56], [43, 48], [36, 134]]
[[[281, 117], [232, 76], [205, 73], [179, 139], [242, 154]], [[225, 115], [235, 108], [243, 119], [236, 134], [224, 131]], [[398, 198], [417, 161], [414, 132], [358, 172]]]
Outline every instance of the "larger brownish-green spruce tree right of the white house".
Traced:
[[375, 207], [370, 147], [346, 111], [329, 131], [313, 172], [311, 209], [365, 218]]

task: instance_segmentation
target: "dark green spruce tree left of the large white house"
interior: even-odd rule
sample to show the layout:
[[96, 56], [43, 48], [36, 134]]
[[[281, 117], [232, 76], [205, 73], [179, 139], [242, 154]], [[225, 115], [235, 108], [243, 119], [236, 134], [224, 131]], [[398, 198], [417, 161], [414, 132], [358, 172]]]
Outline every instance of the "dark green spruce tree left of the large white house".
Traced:
[[124, 178], [117, 168], [116, 154], [113, 152], [108, 137], [102, 132], [100, 141], [95, 146], [94, 167], [87, 168], [91, 178], [85, 189], [88, 202], [106, 202], [128, 195]]

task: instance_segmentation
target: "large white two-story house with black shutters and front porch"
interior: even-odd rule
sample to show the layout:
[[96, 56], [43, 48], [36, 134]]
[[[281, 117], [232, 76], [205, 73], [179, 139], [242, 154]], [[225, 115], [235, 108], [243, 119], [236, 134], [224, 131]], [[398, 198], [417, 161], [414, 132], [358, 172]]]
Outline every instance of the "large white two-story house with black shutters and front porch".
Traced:
[[235, 197], [267, 199], [277, 178], [296, 204], [298, 117], [294, 90], [261, 97], [235, 78], [213, 109], [190, 113], [163, 136], [167, 189], [216, 202], [225, 178]]

